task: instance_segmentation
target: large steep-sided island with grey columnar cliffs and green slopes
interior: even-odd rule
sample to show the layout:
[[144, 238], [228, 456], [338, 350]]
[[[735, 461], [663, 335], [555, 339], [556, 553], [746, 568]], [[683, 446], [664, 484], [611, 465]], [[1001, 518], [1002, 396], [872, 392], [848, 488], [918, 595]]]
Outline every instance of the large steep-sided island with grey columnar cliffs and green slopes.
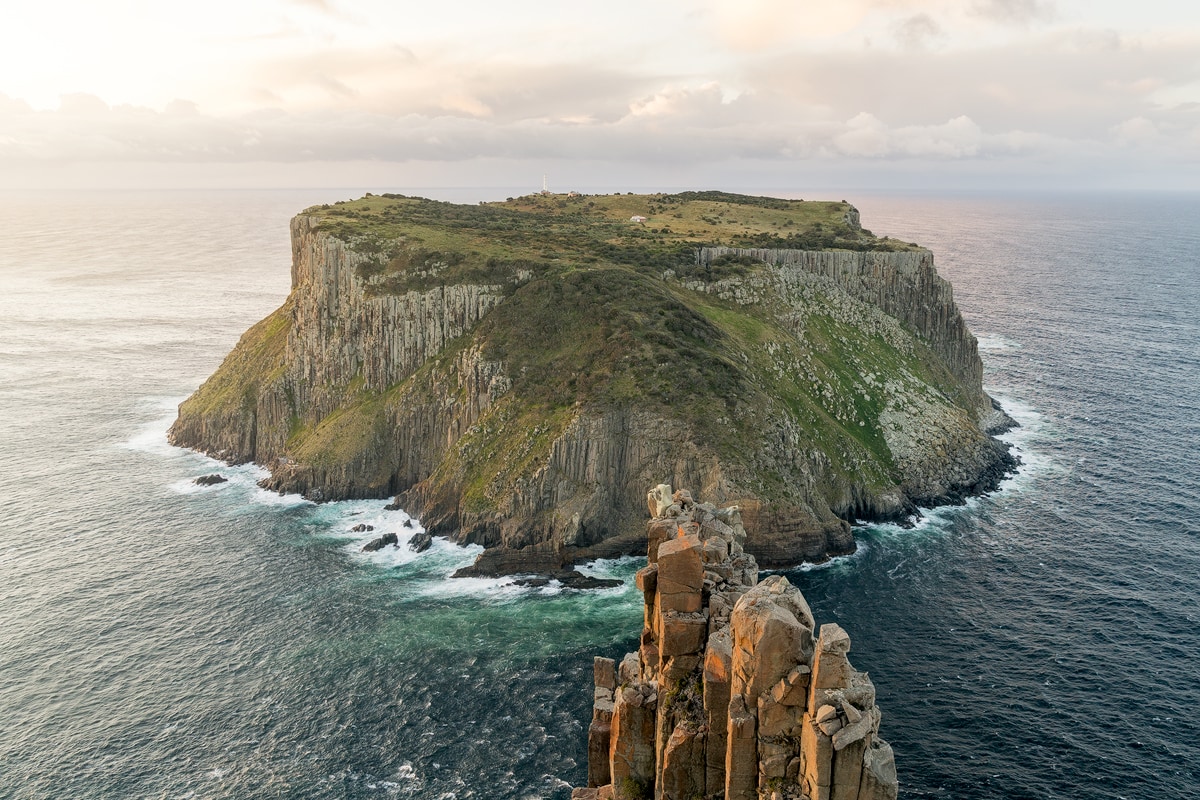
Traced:
[[[746, 213], [655, 197], [673, 218]], [[180, 407], [174, 444], [312, 499], [395, 495], [490, 548], [479, 573], [640, 549], [640, 487], [661, 480], [740, 503], [749, 549], [778, 566], [851, 552], [847, 519], [953, 501], [1009, 465], [928, 251], [676, 247], [623, 210], [581, 225], [554, 206], [360, 203], [293, 221], [287, 302]], [[792, 224], [798, 206], [769, 203]], [[833, 211], [850, 245], [878, 242]], [[472, 216], [439, 222], [455, 215]]]

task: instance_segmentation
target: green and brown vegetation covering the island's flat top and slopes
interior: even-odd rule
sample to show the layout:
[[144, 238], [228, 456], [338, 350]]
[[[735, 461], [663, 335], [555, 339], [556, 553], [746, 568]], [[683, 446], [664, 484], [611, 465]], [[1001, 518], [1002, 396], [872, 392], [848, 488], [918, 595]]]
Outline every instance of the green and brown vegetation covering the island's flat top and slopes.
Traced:
[[[961, 393], [917, 337], [889, 337], [836, 312], [832, 287], [814, 288], [803, 302], [751, 303], [697, 287], [766, 269], [749, 255], [700, 263], [701, 246], [916, 247], [862, 230], [846, 203], [684, 192], [535, 194], [470, 206], [384, 194], [306, 213], [361, 257], [368, 293], [470, 283], [506, 294], [400, 384], [368, 389], [360, 378], [324, 387], [343, 399], [322, 419], [294, 409], [290, 457], [353, 474], [379, 493], [395, 464], [378, 455], [392, 446], [401, 409], [474, 401], [456, 374], [466, 348], [503, 363], [511, 390], [457, 434], [430, 482], [456, 487], [475, 512], [517, 493], [581, 409], [636, 407], [679, 420], [748, 488], [782, 499], [811, 481], [804, 452], [820, 453], [828, 480], [895, 485], [880, 427], [895, 390], [875, 375], [908, 377], [905, 391], [919, 385], [942, 403]], [[284, 306], [251, 329], [188, 401], [192, 411], [252, 407], [260, 387], [280, 381], [289, 320]]]

